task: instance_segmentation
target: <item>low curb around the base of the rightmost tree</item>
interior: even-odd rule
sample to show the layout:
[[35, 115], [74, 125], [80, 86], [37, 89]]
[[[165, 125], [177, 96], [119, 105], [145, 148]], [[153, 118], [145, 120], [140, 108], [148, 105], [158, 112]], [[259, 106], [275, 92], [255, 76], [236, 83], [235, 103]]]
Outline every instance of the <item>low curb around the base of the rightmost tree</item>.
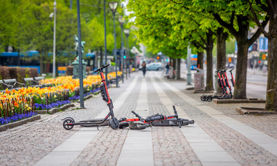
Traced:
[[263, 108], [254, 107], [235, 107], [235, 111], [240, 113], [240, 115], [273, 115], [277, 114], [277, 111], [265, 111]]

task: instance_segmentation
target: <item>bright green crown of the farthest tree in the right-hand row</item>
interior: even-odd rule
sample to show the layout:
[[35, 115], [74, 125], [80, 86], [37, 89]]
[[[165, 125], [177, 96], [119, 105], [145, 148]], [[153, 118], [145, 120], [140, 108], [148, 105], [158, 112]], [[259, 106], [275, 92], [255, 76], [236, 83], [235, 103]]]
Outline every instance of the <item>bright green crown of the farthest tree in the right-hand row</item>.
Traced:
[[[166, 5], [166, 3], [161, 5], [158, 3], [156, 1], [145, 0], [129, 1], [127, 8], [133, 11], [129, 18], [136, 17], [136, 20], [130, 23], [138, 29], [136, 37], [152, 53], [159, 53], [161, 51], [172, 58], [185, 57], [184, 53], [186, 53], [186, 50], [177, 48], [181, 45], [178, 42], [181, 41], [170, 39], [173, 30], [170, 21], [159, 12], [163, 10], [162, 5]], [[184, 44], [184, 42], [181, 43]]]

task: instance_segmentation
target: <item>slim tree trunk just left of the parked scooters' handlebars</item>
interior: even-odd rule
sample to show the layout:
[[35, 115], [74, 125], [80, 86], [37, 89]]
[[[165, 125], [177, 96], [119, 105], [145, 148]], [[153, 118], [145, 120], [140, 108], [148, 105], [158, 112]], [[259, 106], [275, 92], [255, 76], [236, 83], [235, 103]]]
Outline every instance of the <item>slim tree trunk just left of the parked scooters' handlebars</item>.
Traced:
[[206, 88], [205, 91], [213, 91], [213, 33], [207, 35], [207, 71], [206, 71]]

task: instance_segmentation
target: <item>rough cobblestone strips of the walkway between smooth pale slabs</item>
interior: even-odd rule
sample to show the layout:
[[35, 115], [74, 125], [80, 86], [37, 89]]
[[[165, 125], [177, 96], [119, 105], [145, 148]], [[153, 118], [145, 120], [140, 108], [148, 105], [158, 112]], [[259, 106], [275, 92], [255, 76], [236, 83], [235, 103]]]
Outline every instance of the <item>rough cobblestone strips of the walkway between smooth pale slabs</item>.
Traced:
[[[167, 80], [162, 77], [161, 72], [156, 71], [148, 71], [145, 78], [141, 72], [132, 73], [131, 76], [128, 77], [128, 80], [125, 79], [124, 84], [120, 82], [119, 88], [109, 89], [110, 98], [114, 103], [123, 102], [115, 110], [117, 118], [133, 117], [131, 111], [138, 107], [137, 101], [140, 95], [141, 82], [144, 79], [148, 86], [147, 100], [150, 115], [154, 113], [169, 115], [171, 111], [164, 104], [168, 100], [179, 108], [177, 111], [180, 114], [185, 113], [190, 119], [195, 120], [196, 124], [188, 126], [191, 127], [190, 129], [201, 128], [239, 165], [277, 165], [276, 154], [267, 151], [244, 136], [243, 133], [232, 129], [195, 107], [191, 101], [201, 102], [199, 96], [202, 94], [194, 94], [192, 91], [185, 90], [187, 86], [184, 80]], [[135, 77], [139, 77], [139, 79], [132, 82]], [[128, 93], [126, 100], [119, 101], [120, 94], [123, 94], [131, 86], [131, 83], [134, 84], [134, 88]], [[170, 90], [167, 84], [193, 98], [193, 100], [188, 102], [187, 98], [180, 98], [179, 93]], [[165, 96], [160, 96], [161, 92], [158, 93], [157, 85]], [[201, 104], [261, 131], [274, 140], [277, 139], [276, 115], [241, 116], [235, 111], [235, 107], [264, 107], [264, 104], [215, 104], [213, 102], [201, 102]], [[86, 109], [77, 109], [78, 104], [76, 106], [54, 115], [42, 115], [41, 120], [2, 131], [0, 133], [1, 165], [34, 165], [82, 128], [75, 126], [72, 130], [67, 131], [62, 127], [62, 118], [70, 116], [75, 121], [96, 118], [103, 110], [107, 109], [107, 104], [100, 95], [86, 100], [84, 103]], [[143, 105], [140, 108], [143, 108]], [[186, 127], [183, 128], [186, 129]], [[206, 163], [202, 158], [199, 158], [199, 152], [195, 151], [186, 137], [186, 132], [182, 132], [184, 130], [181, 131], [179, 127], [152, 127], [150, 131], [152, 147], [149, 150], [152, 151], [154, 165], [211, 165], [211, 163]], [[125, 140], [128, 132], [128, 128], [113, 130], [109, 127], [100, 127], [100, 131], [96, 133], [94, 138], [91, 138], [87, 147], [81, 151], [71, 165], [117, 165], [123, 146], [127, 146]], [[136, 132], [140, 133], [143, 130]], [[139, 162], [133, 164], [139, 165]], [[222, 163], [217, 163], [217, 165], [222, 165]], [[229, 165], [235, 165], [235, 163], [229, 163]]]

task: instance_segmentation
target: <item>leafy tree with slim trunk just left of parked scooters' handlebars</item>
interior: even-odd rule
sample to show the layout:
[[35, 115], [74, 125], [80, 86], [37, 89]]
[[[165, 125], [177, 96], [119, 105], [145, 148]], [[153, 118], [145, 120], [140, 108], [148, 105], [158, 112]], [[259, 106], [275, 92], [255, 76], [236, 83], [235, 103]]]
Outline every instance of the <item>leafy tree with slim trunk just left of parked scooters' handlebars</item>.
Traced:
[[183, 1], [182, 3], [175, 2], [174, 5], [172, 3], [170, 4], [170, 1], [167, 3], [167, 10], [164, 10], [164, 15], [171, 22], [172, 28], [175, 30], [172, 39], [178, 39], [180, 37], [184, 41], [193, 44], [199, 50], [206, 50], [207, 72], [205, 90], [212, 91], [213, 43], [215, 41], [215, 30], [218, 24], [216, 24], [216, 21], [211, 16], [203, 15], [201, 11], [194, 8], [191, 1]]

